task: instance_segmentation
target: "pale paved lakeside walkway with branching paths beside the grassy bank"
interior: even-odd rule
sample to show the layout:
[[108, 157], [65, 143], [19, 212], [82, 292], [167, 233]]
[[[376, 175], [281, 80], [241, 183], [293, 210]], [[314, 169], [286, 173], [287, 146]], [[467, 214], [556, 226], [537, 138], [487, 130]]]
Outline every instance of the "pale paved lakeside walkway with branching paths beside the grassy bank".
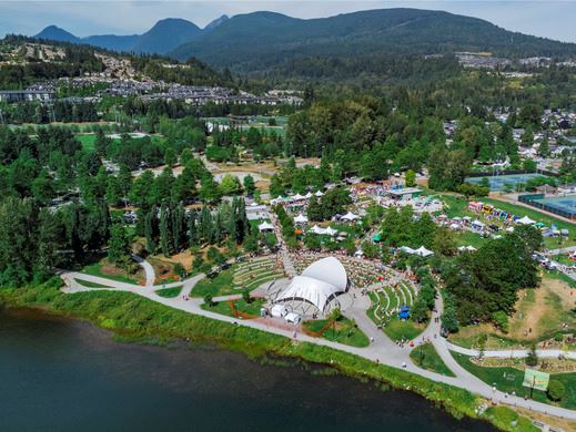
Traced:
[[[129, 291], [145, 297], [152, 301], [162, 304], [164, 306], [186, 311], [189, 313], [194, 313], [206, 318], [216, 319], [220, 321], [234, 323], [236, 326], [245, 326], [253, 329], [272, 332], [275, 335], [284, 336], [286, 338], [293, 338], [293, 330], [273, 326], [272, 318], [265, 318], [260, 320], [241, 320], [202, 309], [201, 305], [203, 304], [203, 300], [198, 298], [188, 298], [188, 295], [191, 292], [194, 285], [204, 277], [204, 275], [198, 275], [193, 278], [189, 278], [180, 282], [168, 284], [165, 286], [166, 288], [179, 285], [183, 285], [184, 287], [181, 295], [174, 298], [163, 298], [158, 296], [155, 294], [155, 289], [160, 287], [140, 287], [137, 285], [117, 282], [109, 279], [99, 278], [91, 275], [79, 274], [74, 271], [63, 271], [61, 274], [61, 277], [67, 284], [67, 287], [63, 288], [62, 291], [68, 294], [95, 290]], [[82, 280], [90, 280], [92, 282], [107, 285], [110, 286], [110, 288], [85, 288], [79, 284], [79, 281], [81, 282]], [[225, 297], [223, 297], [223, 299], [225, 299]], [[296, 340], [330, 347], [336, 350], [360, 356], [367, 360], [377, 361], [378, 363], [383, 363], [393, 368], [405, 369], [412, 373], [422, 376], [432, 381], [444, 382], [446, 384], [468, 390], [475, 394], [492, 400], [494, 403], [502, 403], [511, 407], [521, 407], [527, 410], [542, 412], [544, 414], [576, 421], [576, 411], [508, 395], [506, 393], [491, 388], [488, 384], [481, 381], [472, 373], [467, 372], [454, 360], [454, 358], [449, 353], [448, 346], [445, 343], [445, 341], [439, 337], [434, 338], [434, 335], [439, 335], [441, 326], [439, 322], [435, 322], [434, 319], [431, 320], [431, 325], [423, 332], [423, 335], [416, 338], [416, 342], [422, 341], [423, 338], [430, 338], [432, 343], [434, 344], [434, 348], [441, 356], [442, 360], [455, 373], [456, 377], [445, 377], [443, 374], [418, 368], [412, 362], [410, 358], [410, 352], [412, 348], [408, 347], [408, 344], [405, 344], [403, 348], [397, 346], [390, 338], [387, 338], [384, 332], [380, 331], [374, 325], [374, 322], [372, 322], [372, 320], [367, 318], [365, 313], [366, 309], [364, 307], [365, 305], [355, 305], [355, 307], [352, 307], [346, 311], [346, 315], [350, 318], [355, 319], [360, 329], [363, 332], [365, 332], [368, 338], [371, 338], [372, 342], [366, 348], [350, 347], [337, 342], [329, 341], [326, 339], [312, 338], [307, 335], [303, 335], [300, 332], [296, 335]], [[443, 310], [443, 302], [439, 296], [436, 300], [436, 310], [438, 316], [442, 313]]]

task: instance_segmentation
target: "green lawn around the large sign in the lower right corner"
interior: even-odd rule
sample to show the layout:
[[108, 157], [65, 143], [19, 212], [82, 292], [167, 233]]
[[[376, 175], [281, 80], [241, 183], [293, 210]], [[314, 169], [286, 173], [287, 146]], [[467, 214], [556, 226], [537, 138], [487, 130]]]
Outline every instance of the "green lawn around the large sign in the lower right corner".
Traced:
[[[488, 368], [474, 364], [469, 361], [468, 356], [464, 356], [457, 352], [452, 352], [454, 359], [472, 374], [479, 378], [482, 381], [489, 385], [495, 385], [498, 390], [504, 392], [516, 392], [516, 395], [529, 398], [530, 389], [523, 387], [524, 371], [516, 368]], [[533, 399], [538, 402], [557, 404], [567, 409], [576, 408], [576, 373], [554, 373], [550, 374], [550, 379], [560, 381], [566, 388], [566, 395], [560, 402], [553, 403], [546, 392], [542, 390], [534, 390]]]

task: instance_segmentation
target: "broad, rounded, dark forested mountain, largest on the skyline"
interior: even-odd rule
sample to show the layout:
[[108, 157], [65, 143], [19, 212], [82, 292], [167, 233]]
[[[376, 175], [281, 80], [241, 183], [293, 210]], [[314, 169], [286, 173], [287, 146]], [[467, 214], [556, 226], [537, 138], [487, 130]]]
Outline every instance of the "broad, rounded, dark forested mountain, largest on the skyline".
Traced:
[[273, 12], [232, 17], [169, 53], [218, 68], [267, 74], [310, 59], [487, 51], [495, 55], [572, 55], [576, 44], [511, 32], [487, 21], [443, 11], [381, 9], [320, 19]]

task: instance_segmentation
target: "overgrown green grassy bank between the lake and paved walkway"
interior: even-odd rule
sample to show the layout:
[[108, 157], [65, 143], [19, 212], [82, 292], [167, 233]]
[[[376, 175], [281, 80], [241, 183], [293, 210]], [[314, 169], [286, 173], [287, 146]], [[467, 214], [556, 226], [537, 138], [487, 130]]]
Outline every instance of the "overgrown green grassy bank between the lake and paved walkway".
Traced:
[[[356, 379], [375, 380], [395, 389], [413, 391], [443, 407], [457, 419], [466, 415], [485, 420], [507, 431], [537, 430], [528, 419], [505, 407], [488, 408], [483, 414], [478, 414], [476, 410], [485, 401], [466, 390], [433, 382], [327, 347], [292, 341], [264, 331], [189, 315], [129, 292], [64, 295], [55, 286], [30, 287], [0, 289], [0, 301], [8, 307], [40, 308], [53, 315], [85, 319], [114, 331], [123, 341], [168, 342], [185, 339], [193, 342], [215, 342], [223, 348], [242, 351], [251, 358], [273, 354], [327, 364]], [[513, 421], [516, 422], [515, 425]]]

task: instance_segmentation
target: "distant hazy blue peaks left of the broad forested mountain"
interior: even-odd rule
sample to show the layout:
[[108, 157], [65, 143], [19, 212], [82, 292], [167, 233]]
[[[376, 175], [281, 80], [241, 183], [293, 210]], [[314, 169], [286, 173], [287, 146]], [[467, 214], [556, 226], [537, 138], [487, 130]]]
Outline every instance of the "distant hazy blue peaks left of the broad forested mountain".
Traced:
[[200, 34], [202, 34], [202, 30], [196, 24], [179, 18], [169, 18], [158, 21], [154, 27], [143, 34], [103, 34], [78, 38], [55, 25], [49, 25], [34, 35], [34, 38], [59, 42], [85, 43], [111, 51], [163, 54], [185, 42], [194, 40]]

